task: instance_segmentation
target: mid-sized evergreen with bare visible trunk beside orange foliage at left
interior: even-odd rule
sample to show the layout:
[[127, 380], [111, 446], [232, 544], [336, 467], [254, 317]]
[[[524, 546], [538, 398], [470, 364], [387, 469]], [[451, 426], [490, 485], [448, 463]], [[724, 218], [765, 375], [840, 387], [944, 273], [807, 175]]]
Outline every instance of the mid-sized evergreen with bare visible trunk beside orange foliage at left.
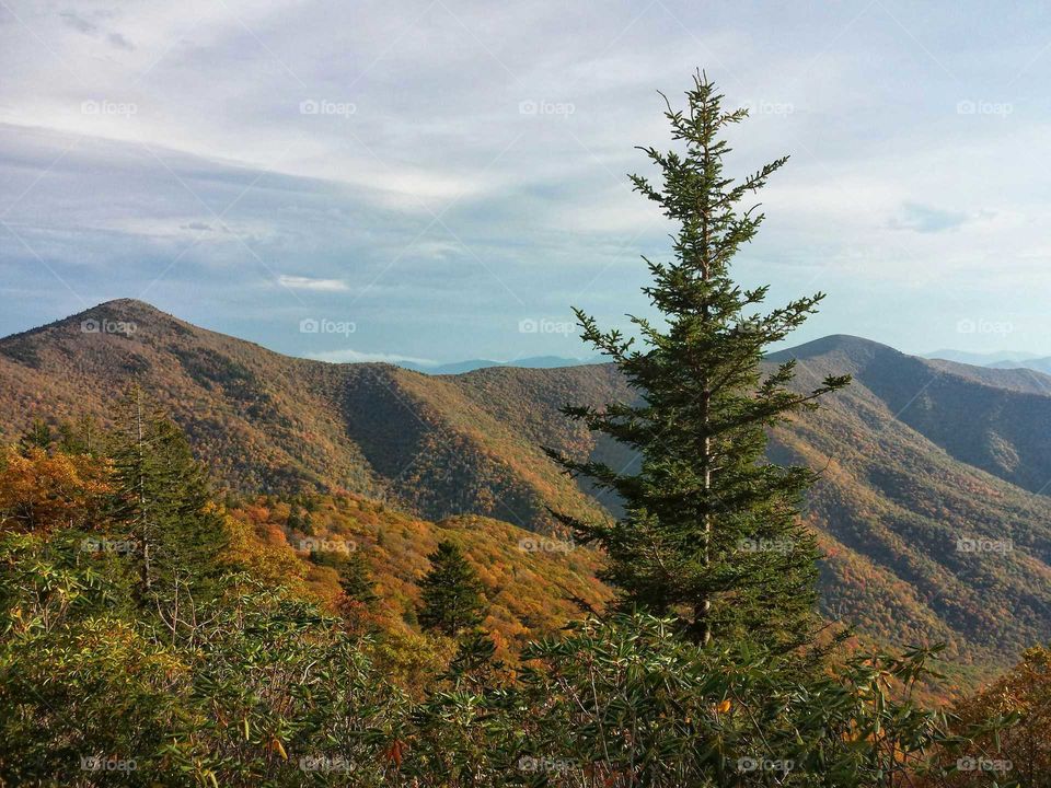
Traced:
[[136, 545], [139, 593], [170, 599], [176, 583], [216, 573], [226, 531], [211, 502], [207, 471], [183, 431], [134, 387], [113, 436], [117, 491], [113, 513]]

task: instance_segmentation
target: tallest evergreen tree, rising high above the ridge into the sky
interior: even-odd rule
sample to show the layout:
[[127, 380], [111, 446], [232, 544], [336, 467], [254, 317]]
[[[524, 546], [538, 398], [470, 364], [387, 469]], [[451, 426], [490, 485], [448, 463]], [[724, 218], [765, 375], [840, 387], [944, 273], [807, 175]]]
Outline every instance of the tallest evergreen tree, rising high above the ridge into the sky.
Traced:
[[763, 374], [764, 349], [823, 298], [762, 313], [767, 287], [742, 289], [730, 278], [734, 254], [763, 221], [758, 206], [742, 200], [787, 158], [735, 183], [723, 172], [730, 151], [723, 132], [747, 111], [724, 109], [702, 74], [686, 97], [685, 111], [666, 99], [681, 152], [640, 149], [660, 169], [659, 186], [631, 176], [634, 189], [677, 225], [671, 262], [644, 257], [652, 276], [644, 292], [660, 322], [631, 317], [644, 345], [636, 349], [634, 338], [600, 331], [575, 310], [582, 338], [612, 358], [639, 399], [564, 413], [626, 444], [640, 470], [626, 475], [550, 451], [568, 473], [592, 478], [624, 503], [612, 523], [558, 517], [605, 551], [603, 579], [620, 590], [623, 606], [673, 613], [696, 642], [751, 637], [788, 650], [807, 642], [818, 621], [819, 554], [798, 517], [815, 474], [765, 462], [767, 431], [850, 378], [829, 376], [797, 393], [788, 387], [794, 361]]

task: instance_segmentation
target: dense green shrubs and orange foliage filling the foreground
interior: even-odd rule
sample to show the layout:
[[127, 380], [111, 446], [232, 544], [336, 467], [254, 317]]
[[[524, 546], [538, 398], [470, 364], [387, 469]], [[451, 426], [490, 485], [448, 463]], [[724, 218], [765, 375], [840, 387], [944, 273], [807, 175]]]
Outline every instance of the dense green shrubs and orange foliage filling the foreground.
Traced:
[[146, 594], [111, 459], [27, 445], [2, 467], [4, 785], [1046, 785], [1046, 650], [958, 717], [910, 699], [926, 652], [802, 675], [643, 613], [498, 660], [474, 629], [369, 613], [376, 587], [347, 563], [334, 595], [278, 584], [301, 568], [210, 499], [222, 548]]

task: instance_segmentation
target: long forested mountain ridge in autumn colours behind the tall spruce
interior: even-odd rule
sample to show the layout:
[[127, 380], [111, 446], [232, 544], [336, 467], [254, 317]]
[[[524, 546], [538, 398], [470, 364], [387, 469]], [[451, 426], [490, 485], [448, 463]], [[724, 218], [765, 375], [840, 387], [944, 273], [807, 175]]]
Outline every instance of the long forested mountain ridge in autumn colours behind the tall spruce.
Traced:
[[[771, 456], [822, 472], [807, 519], [828, 552], [824, 605], [863, 633], [944, 640], [981, 673], [1051, 639], [1051, 378], [906, 356], [832, 336], [774, 354], [798, 384], [855, 384], [775, 431]], [[424, 375], [281, 356], [138, 301], [0, 339], [0, 428], [112, 413], [137, 380], [241, 489], [346, 489], [430, 520], [548, 531], [608, 517], [541, 447], [631, 467], [558, 408], [636, 396], [608, 364]], [[974, 547], [974, 549], [970, 549]]]

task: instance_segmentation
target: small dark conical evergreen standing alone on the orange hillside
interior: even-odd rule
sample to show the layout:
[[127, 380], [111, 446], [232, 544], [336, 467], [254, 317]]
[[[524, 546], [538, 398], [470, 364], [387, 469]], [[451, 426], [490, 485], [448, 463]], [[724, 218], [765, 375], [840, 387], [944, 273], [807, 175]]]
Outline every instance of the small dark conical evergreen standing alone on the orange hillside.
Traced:
[[481, 624], [485, 610], [482, 583], [460, 548], [444, 541], [427, 559], [430, 571], [419, 582], [420, 626], [455, 636]]

